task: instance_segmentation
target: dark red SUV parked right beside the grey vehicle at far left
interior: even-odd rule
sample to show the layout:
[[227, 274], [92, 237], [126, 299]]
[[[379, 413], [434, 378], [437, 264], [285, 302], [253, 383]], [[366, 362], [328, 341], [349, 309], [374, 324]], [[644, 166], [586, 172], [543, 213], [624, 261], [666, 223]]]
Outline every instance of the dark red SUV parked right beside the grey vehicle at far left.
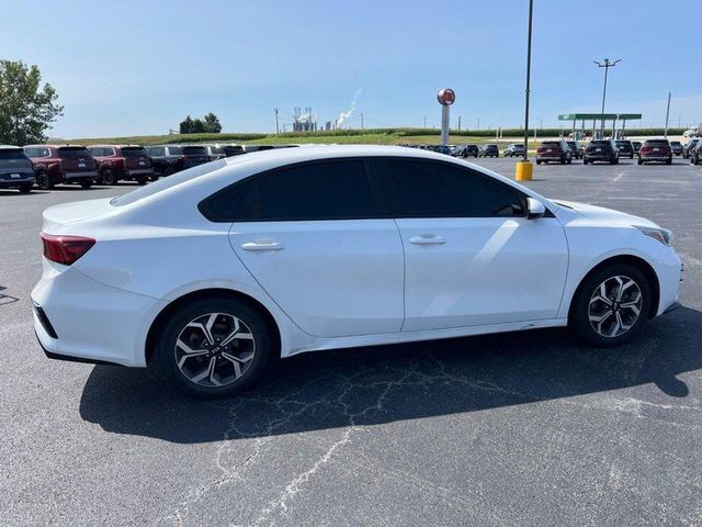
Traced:
[[89, 189], [98, 177], [98, 164], [84, 146], [27, 145], [24, 154], [32, 160], [36, 184], [43, 190], [59, 183], [78, 183]]

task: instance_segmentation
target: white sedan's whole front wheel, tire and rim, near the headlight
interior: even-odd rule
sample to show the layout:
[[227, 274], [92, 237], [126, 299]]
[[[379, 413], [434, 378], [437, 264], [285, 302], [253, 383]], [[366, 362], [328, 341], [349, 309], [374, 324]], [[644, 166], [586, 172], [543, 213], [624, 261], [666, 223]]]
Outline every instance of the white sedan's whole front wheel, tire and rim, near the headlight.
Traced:
[[579, 289], [570, 326], [585, 341], [600, 347], [632, 339], [646, 319], [650, 285], [638, 268], [615, 264], [598, 270]]

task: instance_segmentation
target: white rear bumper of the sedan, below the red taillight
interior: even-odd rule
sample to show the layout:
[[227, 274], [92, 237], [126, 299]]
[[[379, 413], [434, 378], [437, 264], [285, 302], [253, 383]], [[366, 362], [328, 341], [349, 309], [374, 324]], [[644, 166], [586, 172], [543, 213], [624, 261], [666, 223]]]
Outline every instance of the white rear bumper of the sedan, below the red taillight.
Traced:
[[146, 335], [163, 301], [104, 285], [72, 267], [46, 259], [43, 265], [32, 304], [47, 357], [146, 366]]

